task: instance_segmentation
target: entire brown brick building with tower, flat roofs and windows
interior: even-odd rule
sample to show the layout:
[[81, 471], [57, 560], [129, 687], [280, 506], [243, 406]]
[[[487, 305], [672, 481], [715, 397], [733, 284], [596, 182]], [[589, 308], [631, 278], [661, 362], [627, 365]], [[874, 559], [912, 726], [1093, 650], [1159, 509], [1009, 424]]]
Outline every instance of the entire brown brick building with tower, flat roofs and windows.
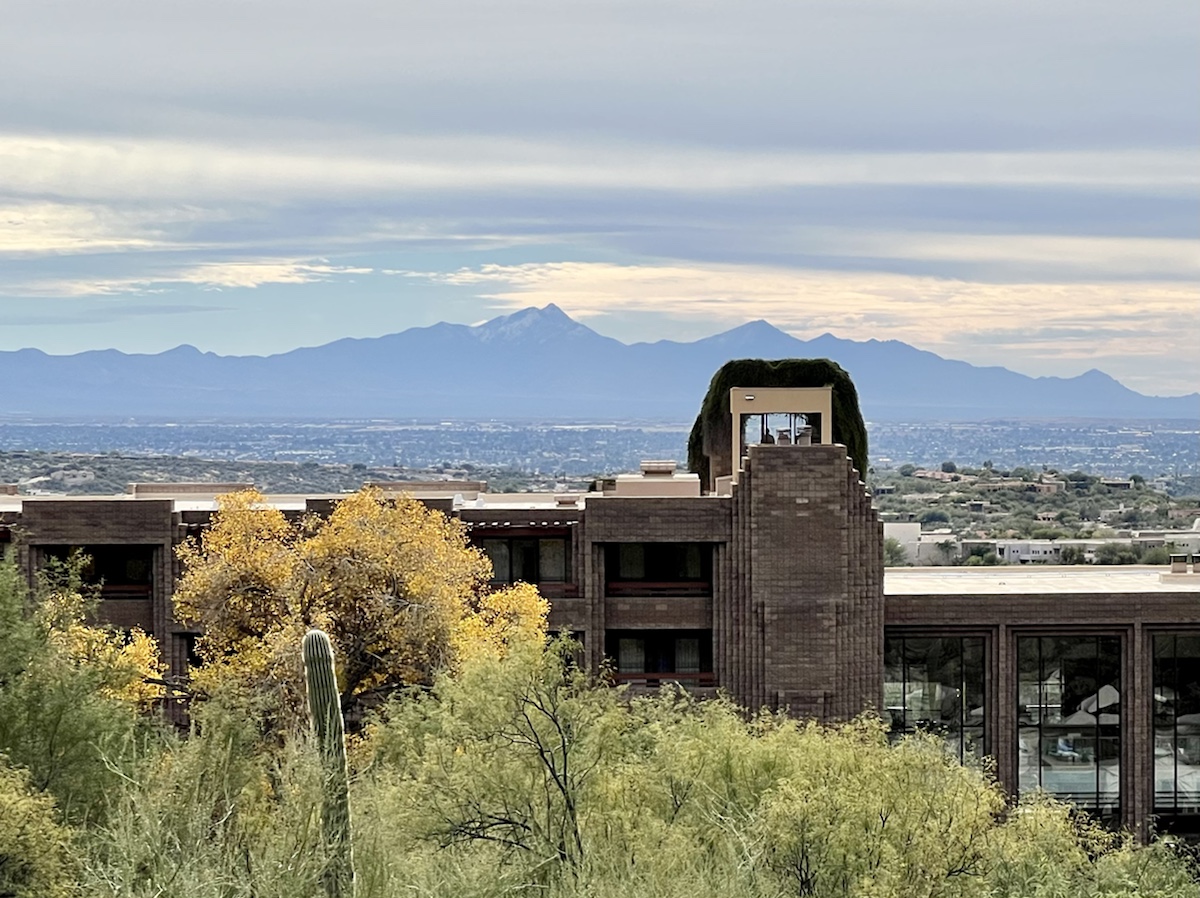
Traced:
[[[1142, 833], [1151, 820], [1200, 831], [1200, 570], [884, 576], [882, 523], [859, 473], [842, 447], [811, 443], [804, 411], [784, 412], [774, 433], [764, 418], [757, 444], [740, 420], [738, 463], [708, 484], [647, 462], [562, 496], [380, 486], [462, 520], [497, 582], [538, 583], [551, 625], [576, 634], [593, 665], [610, 659], [631, 688], [677, 681], [821, 720], [875, 708], [896, 732], [930, 730], [962, 758], [994, 758], [1012, 792], [1043, 788]], [[139, 485], [106, 498], [0, 491], [0, 540], [16, 538], [30, 576], [85, 549], [104, 616], [154, 633], [184, 672], [196, 634], [172, 617], [174, 549], [230, 486]], [[336, 501], [270, 497], [296, 515]]]

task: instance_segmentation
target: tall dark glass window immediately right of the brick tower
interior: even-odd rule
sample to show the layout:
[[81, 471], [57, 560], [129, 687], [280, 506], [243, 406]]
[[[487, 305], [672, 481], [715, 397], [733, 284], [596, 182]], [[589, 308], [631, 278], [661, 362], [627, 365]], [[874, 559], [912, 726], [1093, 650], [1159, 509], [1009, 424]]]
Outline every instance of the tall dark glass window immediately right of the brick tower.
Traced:
[[888, 635], [883, 700], [896, 736], [932, 732], [960, 760], [984, 753], [982, 636]]

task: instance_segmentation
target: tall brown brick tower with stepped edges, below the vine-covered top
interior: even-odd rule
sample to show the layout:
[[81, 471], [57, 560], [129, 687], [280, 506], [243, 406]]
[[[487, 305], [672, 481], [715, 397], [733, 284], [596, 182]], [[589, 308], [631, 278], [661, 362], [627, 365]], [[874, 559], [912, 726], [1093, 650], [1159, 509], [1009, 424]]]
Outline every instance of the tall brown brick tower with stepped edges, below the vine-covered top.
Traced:
[[736, 541], [749, 567], [751, 706], [845, 719], [882, 699], [883, 527], [841, 447], [751, 447]]

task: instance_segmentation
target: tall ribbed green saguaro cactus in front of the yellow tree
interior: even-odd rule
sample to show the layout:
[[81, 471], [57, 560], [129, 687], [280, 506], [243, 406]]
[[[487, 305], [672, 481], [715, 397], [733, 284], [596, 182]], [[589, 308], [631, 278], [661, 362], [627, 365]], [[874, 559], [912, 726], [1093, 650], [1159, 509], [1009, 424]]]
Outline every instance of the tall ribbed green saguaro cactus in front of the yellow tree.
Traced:
[[308, 713], [317, 736], [324, 778], [320, 824], [329, 850], [323, 882], [330, 898], [354, 894], [354, 854], [350, 842], [349, 776], [346, 767], [346, 729], [334, 676], [334, 646], [322, 630], [304, 637], [304, 672]]

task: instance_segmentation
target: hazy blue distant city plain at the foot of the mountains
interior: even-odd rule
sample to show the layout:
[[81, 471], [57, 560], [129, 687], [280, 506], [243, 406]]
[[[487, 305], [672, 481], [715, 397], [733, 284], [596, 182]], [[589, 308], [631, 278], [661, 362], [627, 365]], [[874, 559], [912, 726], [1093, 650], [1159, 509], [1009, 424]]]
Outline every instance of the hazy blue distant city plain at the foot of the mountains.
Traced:
[[[0, 453], [176, 456], [395, 469], [508, 471], [575, 479], [686, 459], [690, 423], [64, 421], [0, 423]], [[869, 423], [872, 467], [956, 461], [1177, 481], [1200, 478], [1198, 421]], [[26, 462], [29, 460], [26, 459]], [[11, 460], [0, 478], [14, 479]], [[28, 473], [28, 472], [26, 472]]]

